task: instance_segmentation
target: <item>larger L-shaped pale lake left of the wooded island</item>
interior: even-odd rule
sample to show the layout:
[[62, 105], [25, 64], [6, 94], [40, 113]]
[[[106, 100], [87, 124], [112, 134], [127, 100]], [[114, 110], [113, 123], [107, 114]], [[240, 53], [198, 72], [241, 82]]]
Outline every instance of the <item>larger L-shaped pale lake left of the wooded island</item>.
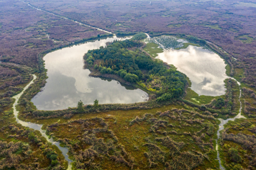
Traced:
[[45, 87], [32, 102], [38, 110], [59, 110], [76, 107], [79, 100], [84, 104], [133, 103], [148, 99], [148, 94], [140, 89], [125, 87], [111, 79], [89, 77], [90, 71], [83, 69], [83, 56], [88, 50], [105, 46], [106, 42], [123, 40], [107, 38], [87, 42], [73, 47], [53, 51], [44, 57], [47, 76]]

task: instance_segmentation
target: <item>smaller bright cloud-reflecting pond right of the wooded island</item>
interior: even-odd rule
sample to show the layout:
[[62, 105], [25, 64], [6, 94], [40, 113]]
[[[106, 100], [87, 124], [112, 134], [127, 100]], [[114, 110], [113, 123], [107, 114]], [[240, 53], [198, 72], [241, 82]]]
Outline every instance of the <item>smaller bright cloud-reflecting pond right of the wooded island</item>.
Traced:
[[164, 50], [158, 59], [173, 64], [192, 82], [191, 89], [199, 95], [220, 96], [225, 94], [225, 62], [217, 54], [202, 47], [189, 45], [186, 49]]

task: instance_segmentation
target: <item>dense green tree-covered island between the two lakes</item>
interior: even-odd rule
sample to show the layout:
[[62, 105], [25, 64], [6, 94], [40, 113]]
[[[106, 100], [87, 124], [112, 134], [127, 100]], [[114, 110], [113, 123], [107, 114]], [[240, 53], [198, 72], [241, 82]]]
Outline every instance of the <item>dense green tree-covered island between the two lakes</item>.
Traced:
[[187, 84], [186, 75], [146, 55], [140, 50], [142, 45], [135, 40], [114, 41], [105, 48], [89, 50], [84, 60], [90, 70], [119, 75], [154, 92], [161, 96], [157, 99], [159, 102], [181, 96]]

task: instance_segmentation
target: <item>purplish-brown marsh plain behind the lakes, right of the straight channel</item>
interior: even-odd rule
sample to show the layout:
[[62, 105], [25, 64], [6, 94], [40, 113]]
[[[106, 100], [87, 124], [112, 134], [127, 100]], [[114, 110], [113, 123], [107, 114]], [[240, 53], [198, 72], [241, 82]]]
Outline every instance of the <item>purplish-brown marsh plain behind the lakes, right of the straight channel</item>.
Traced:
[[[251, 1], [27, 0], [33, 6], [113, 32], [190, 34], [215, 43], [244, 68], [241, 81], [256, 81], [256, 8]], [[241, 3], [241, 5], [240, 5]], [[72, 6], [73, 8], [70, 8]], [[254, 87], [255, 88], [255, 87]]]

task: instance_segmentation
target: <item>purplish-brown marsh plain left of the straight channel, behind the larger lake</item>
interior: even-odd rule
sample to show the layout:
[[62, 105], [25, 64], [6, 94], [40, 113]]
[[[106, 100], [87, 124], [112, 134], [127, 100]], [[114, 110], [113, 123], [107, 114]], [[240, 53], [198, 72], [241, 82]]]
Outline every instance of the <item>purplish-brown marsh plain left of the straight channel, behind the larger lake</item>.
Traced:
[[0, 2], [0, 57], [6, 62], [37, 68], [39, 53], [98, 34], [105, 32], [36, 10], [21, 1]]

